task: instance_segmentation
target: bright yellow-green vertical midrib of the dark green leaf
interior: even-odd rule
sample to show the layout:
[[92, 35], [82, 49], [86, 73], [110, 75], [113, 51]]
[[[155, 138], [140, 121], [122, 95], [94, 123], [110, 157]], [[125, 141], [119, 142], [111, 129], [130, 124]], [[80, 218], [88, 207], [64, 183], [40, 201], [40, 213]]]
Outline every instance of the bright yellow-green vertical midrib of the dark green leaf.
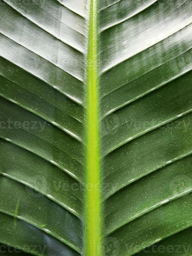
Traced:
[[90, 0], [86, 111], [86, 256], [101, 256], [97, 0]]

